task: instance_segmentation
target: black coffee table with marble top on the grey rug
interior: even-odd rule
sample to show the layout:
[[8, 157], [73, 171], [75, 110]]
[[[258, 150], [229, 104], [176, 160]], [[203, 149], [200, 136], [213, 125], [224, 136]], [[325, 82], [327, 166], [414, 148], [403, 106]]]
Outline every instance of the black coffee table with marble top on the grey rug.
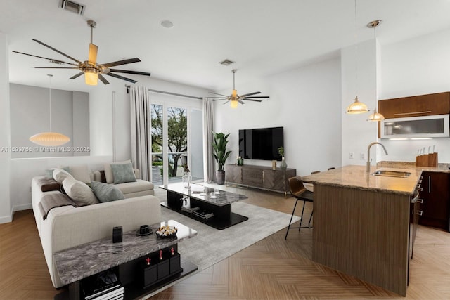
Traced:
[[[172, 209], [179, 214], [184, 214], [192, 219], [205, 223], [216, 229], [225, 229], [243, 221], [247, 221], [247, 216], [233, 213], [231, 204], [240, 200], [247, 199], [245, 195], [219, 190], [214, 193], [214, 188], [208, 188], [203, 185], [191, 185], [191, 188], [184, 188], [183, 183], [171, 183], [169, 185], [160, 185], [160, 188], [167, 190], [167, 202], [162, 202], [163, 207]], [[205, 194], [200, 193], [205, 191]], [[199, 207], [200, 211], [211, 212], [214, 216], [204, 218], [190, 212], [189, 209]]]

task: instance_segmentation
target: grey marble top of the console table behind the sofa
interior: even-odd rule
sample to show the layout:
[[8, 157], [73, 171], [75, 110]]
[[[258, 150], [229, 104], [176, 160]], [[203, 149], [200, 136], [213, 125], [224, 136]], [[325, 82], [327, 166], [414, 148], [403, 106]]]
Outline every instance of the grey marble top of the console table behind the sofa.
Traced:
[[[156, 235], [156, 230], [160, 226], [166, 225], [173, 225], [178, 229], [175, 237], [160, 238]], [[136, 235], [139, 230], [136, 228], [136, 230], [124, 233], [122, 242], [113, 243], [113, 237], [108, 237], [56, 252], [53, 254], [53, 261], [58, 269], [61, 282], [68, 285], [197, 235], [197, 231], [174, 220], [156, 223], [150, 225], [150, 228], [153, 229], [153, 233], [150, 235]], [[113, 232], [113, 228], [111, 228], [111, 232]]]

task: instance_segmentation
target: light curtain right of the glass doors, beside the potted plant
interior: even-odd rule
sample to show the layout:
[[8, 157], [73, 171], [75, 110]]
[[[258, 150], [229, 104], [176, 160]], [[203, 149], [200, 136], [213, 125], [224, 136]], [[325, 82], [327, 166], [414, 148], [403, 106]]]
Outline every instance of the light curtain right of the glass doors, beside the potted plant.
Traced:
[[214, 130], [214, 106], [211, 98], [203, 98], [203, 176], [205, 182], [215, 178], [214, 156], [212, 156], [212, 131]]

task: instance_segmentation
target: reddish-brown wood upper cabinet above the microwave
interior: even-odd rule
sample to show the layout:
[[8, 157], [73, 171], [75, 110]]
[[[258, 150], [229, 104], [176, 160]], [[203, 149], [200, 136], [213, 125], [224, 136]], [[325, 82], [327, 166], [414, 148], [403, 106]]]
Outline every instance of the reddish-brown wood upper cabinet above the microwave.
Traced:
[[445, 115], [450, 112], [450, 92], [380, 100], [378, 111], [386, 119]]

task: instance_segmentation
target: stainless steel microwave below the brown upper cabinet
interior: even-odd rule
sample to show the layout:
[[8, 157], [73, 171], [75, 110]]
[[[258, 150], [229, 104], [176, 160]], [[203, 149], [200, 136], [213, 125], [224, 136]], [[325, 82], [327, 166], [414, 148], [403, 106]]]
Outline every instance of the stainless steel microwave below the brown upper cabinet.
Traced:
[[445, 138], [449, 137], [449, 115], [384, 119], [381, 138]]

